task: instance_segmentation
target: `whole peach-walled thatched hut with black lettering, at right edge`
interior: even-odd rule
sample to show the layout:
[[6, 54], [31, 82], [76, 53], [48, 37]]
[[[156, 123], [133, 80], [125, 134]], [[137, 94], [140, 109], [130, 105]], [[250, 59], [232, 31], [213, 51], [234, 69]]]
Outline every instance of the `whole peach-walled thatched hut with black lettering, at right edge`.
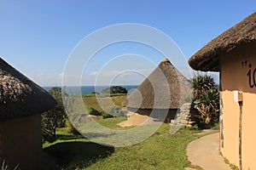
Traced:
[[224, 31], [189, 59], [197, 71], [219, 71], [220, 150], [240, 169], [256, 169], [256, 13]]

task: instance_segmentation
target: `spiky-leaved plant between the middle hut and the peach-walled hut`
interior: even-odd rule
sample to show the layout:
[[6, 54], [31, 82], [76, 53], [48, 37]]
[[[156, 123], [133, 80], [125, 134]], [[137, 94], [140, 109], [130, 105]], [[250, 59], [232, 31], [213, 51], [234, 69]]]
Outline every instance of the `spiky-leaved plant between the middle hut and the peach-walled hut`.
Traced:
[[218, 122], [219, 91], [214, 79], [207, 75], [198, 74], [193, 78], [193, 105], [198, 111], [195, 122], [198, 127], [208, 128]]

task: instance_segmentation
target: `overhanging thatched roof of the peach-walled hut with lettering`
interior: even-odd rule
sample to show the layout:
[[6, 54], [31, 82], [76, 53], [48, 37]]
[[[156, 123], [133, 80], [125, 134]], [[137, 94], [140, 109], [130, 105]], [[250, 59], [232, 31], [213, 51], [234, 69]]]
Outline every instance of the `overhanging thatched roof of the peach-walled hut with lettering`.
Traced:
[[189, 59], [197, 71], [219, 71], [218, 57], [243, 44], [256, 41], [256, 13], [224, 31]]

